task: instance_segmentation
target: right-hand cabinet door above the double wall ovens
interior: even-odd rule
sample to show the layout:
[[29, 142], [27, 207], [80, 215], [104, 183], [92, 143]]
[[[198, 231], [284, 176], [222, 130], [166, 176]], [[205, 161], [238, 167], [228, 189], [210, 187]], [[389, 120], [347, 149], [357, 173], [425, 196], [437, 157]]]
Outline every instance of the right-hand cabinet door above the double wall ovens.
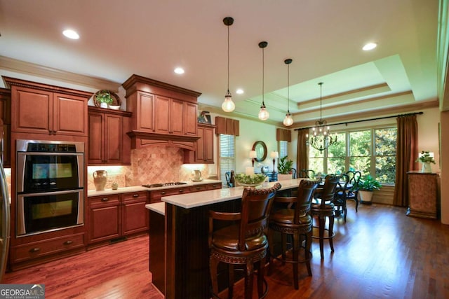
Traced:
[[53, 95], [53, 134], [87, 136], [86, 97]]

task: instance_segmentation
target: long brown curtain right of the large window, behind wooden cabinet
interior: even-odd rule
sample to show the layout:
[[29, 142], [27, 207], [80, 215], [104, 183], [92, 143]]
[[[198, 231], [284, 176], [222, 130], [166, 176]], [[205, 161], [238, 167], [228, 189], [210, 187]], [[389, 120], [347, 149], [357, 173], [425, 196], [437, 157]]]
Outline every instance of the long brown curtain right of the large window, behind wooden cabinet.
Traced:
[[408, 177], [407, 172], [416, 169], [419, 151], [418, 125], [416, 115], [399, 116], [398, 136], [396, 139], [396, 182], [393, 204], [399, 207], [408, 206]]

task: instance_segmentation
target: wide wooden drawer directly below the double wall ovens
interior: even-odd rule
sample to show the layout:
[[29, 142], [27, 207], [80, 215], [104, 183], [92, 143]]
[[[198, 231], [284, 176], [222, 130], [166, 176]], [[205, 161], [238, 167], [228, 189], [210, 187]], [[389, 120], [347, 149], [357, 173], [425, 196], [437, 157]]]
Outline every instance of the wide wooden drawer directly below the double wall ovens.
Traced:
[[50, 254], [77, 249], [84, 246], [84, 234], [48, 239], [23, 246], [11, 247], [11, 261], [19, 263], [31, 258], [39, 258]]

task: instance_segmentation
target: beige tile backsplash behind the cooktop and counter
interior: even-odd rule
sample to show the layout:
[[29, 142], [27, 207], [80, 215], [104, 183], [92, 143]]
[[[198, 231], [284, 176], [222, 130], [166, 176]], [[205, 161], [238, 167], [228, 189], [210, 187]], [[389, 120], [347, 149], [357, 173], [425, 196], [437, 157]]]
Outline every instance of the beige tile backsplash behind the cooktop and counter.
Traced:
[[88, 190], [95, 190], [93, 172], [98, 169], [107, 171], [105, 189], [110, 189], [116, 181], [120, 187], [140, 186], [147, 183], [165, 183], [170, 181], [188, 181], [192, 172], [199, 169], [203, 178], [210, 174], [208, 165], [183, 164], [184, 150], [169, 146], [148, 146], [131, 151], [130, 166], [91, 166], [88, 167]]

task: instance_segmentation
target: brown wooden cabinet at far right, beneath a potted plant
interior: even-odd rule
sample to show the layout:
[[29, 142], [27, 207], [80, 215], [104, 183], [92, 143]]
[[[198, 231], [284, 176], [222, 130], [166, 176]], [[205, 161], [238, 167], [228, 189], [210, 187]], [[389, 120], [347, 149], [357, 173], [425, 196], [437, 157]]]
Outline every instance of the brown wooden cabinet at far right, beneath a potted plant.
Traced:
[[438, 174], [408, 172], [407, 216], [438, 218]]

